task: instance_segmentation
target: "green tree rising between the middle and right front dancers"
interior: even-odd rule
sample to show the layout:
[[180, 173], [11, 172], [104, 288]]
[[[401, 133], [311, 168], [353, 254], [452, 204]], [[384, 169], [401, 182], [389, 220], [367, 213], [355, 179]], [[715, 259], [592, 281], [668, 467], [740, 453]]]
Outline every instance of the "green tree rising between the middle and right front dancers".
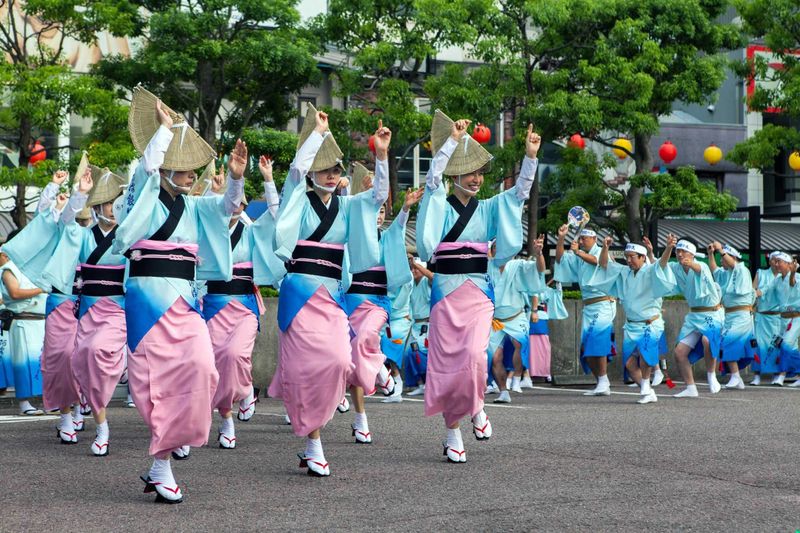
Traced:
[[472, 21], [490, 6], [490, 0], [330, 0], [327, 14], [314, 21], [316, 33], [348, 55], [336, 73], [338, 93], [352, 105], [331, 121], [344, 134], [337, 136], [342, 151], [364, 157], [378, 118], [392, 129], [392, 198], [398, 198], [398, 166], [430, 133], [432, 109], [418, 109], [415, 100], [427, 96], [435, 55], [476, 39]]

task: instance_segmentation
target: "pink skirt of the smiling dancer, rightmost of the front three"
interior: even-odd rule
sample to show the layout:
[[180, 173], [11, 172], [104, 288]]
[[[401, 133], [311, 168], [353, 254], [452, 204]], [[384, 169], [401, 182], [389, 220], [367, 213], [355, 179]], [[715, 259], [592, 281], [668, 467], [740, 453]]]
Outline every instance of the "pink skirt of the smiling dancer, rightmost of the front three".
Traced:
[[467, 281], [431, 308], [425, 415], [451, 426], [483, 409], [494, 304]]

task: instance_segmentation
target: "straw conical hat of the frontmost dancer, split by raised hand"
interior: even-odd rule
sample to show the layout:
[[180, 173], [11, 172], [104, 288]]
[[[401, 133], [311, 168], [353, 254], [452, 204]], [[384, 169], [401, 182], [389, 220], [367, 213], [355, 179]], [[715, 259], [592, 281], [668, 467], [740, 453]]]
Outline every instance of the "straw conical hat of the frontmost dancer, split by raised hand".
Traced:
[[[147, 143], [153, 138], [159, 128], [156, 118], [156, 96], [142, 88], [133, 88], [133, 100], [128, 114], [128, 131], [131, 134], [133, 146], [140, 154], [144, 153]], [[172, 142], [169, 143], [167, 153], [164, 154], [162, 168], [168, 170], [184, 171], [204, 167], [214, 159], [214, 149], [192, 129], [186, 119], [162, 103], [162, 107], [169, 113], [174, 122]]]

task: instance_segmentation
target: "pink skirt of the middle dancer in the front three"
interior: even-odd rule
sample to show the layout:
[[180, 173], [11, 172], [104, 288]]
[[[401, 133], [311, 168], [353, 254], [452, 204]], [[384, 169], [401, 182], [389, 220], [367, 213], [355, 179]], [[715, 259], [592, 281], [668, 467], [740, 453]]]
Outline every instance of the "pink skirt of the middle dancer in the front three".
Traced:
[[320, 286], [280, 334], [269, 386], [269, 395], [283, 400], [295, 435], [308, 435], [333, 418], [351, 369], [347, 315]]

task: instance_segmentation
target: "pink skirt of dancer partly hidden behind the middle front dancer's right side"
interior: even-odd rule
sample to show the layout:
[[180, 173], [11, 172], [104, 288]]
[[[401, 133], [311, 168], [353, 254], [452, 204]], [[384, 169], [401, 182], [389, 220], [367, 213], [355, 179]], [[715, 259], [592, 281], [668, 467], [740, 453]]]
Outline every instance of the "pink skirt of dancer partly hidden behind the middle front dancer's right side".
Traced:
[[389, 316], [383, 307], [363, 302], [350, 314], [350, 328], [355, 336], [350, 339], [350, 349], [355, 369], [348, 384], [361, 387], [367, 393], [375, 389], [375, 378], [386, 356], [381, 351], [381, 329]]

